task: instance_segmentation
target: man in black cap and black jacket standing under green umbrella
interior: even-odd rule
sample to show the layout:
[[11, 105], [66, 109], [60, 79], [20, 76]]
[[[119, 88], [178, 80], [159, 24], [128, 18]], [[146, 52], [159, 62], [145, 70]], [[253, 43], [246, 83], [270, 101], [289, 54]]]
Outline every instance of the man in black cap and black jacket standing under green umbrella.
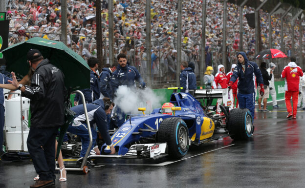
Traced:
[[55, 138], [59, 126], [65, 123], [64, 102], [67, 93], [63, 72], [49, 60], [44, 60], [39, 50], [29, 50], [27, 60], [34, 71], [31, 86], [19, 84], [13, 72], [12, 84], [22, 91], [22, 96], [31, 100], [27, 148], [40, 177], [31, 186], [36, 188], [54, 184]]

